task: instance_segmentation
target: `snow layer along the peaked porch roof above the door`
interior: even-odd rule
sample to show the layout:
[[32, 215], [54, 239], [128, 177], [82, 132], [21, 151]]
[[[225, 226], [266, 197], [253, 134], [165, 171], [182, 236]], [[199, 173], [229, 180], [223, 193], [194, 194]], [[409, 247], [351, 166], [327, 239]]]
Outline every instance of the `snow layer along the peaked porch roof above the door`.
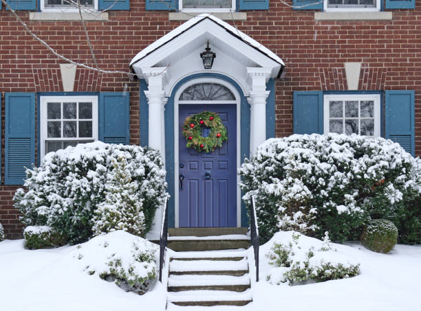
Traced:
[[237, 28], [235, 28], [235, 27], [231, 26], [230, 24], [222, 21], [222, 19], [218, 19], [217, 17], [213, 16], [212, 14], [205, 13], [205, 14], [199, 14], [199, 15], [193, 17], [192, 19], [189, 19], [188, 21], [186, 21], [182, 25], [178, 26], [174, 30], [171, 30], [171, 32], [169, 32], [168, 34], [159, 38], [157, 41], [155, 41], [154, 43], [152, 43], [151, 45], [149, 45], [145, 49], [142, 49], [142, 51], [140, 51], [138, 53], [138, 55], [136, 55], [133, 58], [133, 60], [131, 60], [130, 67], [133, 66], [136, 62], [138, 62], [142, 58], [144, 58], [145, 56], [148, 56], [149, 54], [151, 54], [153, 51], [155, 51], [155, 49], [158, 49], [159, 47], [161, 47], [165, 43], [171, 41], [176, 36], [179, 36], [180, 34], [185, 32], [186, 30], [190, 29], [191, 27], [194, 27], [195, 25], [197, 25], [201, 21], [204, 21], [204, 19], [210, 19], [211, 21], [217, 23], [219, 26], [224, 27], [228, 32], [233, 34], [233, 36], [237, 36], [237, 38], [239, 38], [241, 41], [244, 41], [244, 43], [247, 43], [248, 45], [254, 47], [255, 49], [258, 49], [259, 51], [261, 51], [261, 53], [265, 54], [269, 58], [272, 58], [272, 60], [274, 60], [275, 62], [278, 62], [279, 64], [285, 66], [285, 64], [283, 63], [281, 58], [279, 58], [279, 56], [277, 56], [272, 51], [270, 51], [270, 49], [264, 47], [263, 45], [261, 45], [260, 43], [255, 41], [254, 39], [250, 38], [250, 36], [247, 36], [246, 34], [244, 34], [244, 32], [240, 32], [239, 30], [237, 30]]

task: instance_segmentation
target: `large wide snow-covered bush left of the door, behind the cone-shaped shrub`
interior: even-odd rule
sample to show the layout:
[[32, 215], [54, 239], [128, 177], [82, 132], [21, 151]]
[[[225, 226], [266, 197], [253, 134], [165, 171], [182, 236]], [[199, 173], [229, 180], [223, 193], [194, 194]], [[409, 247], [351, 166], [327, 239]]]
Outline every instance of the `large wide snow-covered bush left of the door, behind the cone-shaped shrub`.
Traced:
[[131, 174], [131, 189], [136, 188], [142, 198], [146, 233], [155, 209], [168, 196], [160, 154], [139, 146], [100, 141], [50, 152], [39, 168], [26, 171], [25, 188], [18, 189], [14, 196], [23, 224], [48, 225], [72, 244], [87, 240], [97, 219], [94, 211], [107, 203], [107, 179], [114, 170], [113, 161], [122, 158], [127, 160], [125, 170]]

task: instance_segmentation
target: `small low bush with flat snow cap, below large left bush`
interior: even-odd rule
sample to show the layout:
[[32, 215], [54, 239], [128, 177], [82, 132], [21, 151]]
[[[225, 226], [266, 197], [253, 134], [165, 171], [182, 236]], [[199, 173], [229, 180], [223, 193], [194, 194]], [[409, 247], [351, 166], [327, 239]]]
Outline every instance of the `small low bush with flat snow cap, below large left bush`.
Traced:
[[28, 226], [23, 230], [27, 249], [48, 249], [66, 244], [63, 235], [49, 226]]

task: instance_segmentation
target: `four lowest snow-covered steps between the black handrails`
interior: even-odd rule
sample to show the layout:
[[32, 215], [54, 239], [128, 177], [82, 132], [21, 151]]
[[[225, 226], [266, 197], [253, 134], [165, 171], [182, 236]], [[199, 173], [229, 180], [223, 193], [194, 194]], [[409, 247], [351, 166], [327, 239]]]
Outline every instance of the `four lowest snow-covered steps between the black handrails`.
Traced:
[[246, 305], [252, 301], [246, 252], [173, 253], [167, 299], [177, 306]]

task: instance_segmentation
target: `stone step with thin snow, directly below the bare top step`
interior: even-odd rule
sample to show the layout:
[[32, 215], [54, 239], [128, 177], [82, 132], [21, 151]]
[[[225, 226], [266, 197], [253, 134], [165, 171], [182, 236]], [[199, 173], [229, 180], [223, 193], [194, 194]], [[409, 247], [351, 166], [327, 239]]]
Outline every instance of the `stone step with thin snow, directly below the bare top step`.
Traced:
[[213, 235], [206, 237], [171, 236], [168, 238], [168, 248], [173, 251], [216, 251], [228, 249], [248, 249], [248, 235]]

